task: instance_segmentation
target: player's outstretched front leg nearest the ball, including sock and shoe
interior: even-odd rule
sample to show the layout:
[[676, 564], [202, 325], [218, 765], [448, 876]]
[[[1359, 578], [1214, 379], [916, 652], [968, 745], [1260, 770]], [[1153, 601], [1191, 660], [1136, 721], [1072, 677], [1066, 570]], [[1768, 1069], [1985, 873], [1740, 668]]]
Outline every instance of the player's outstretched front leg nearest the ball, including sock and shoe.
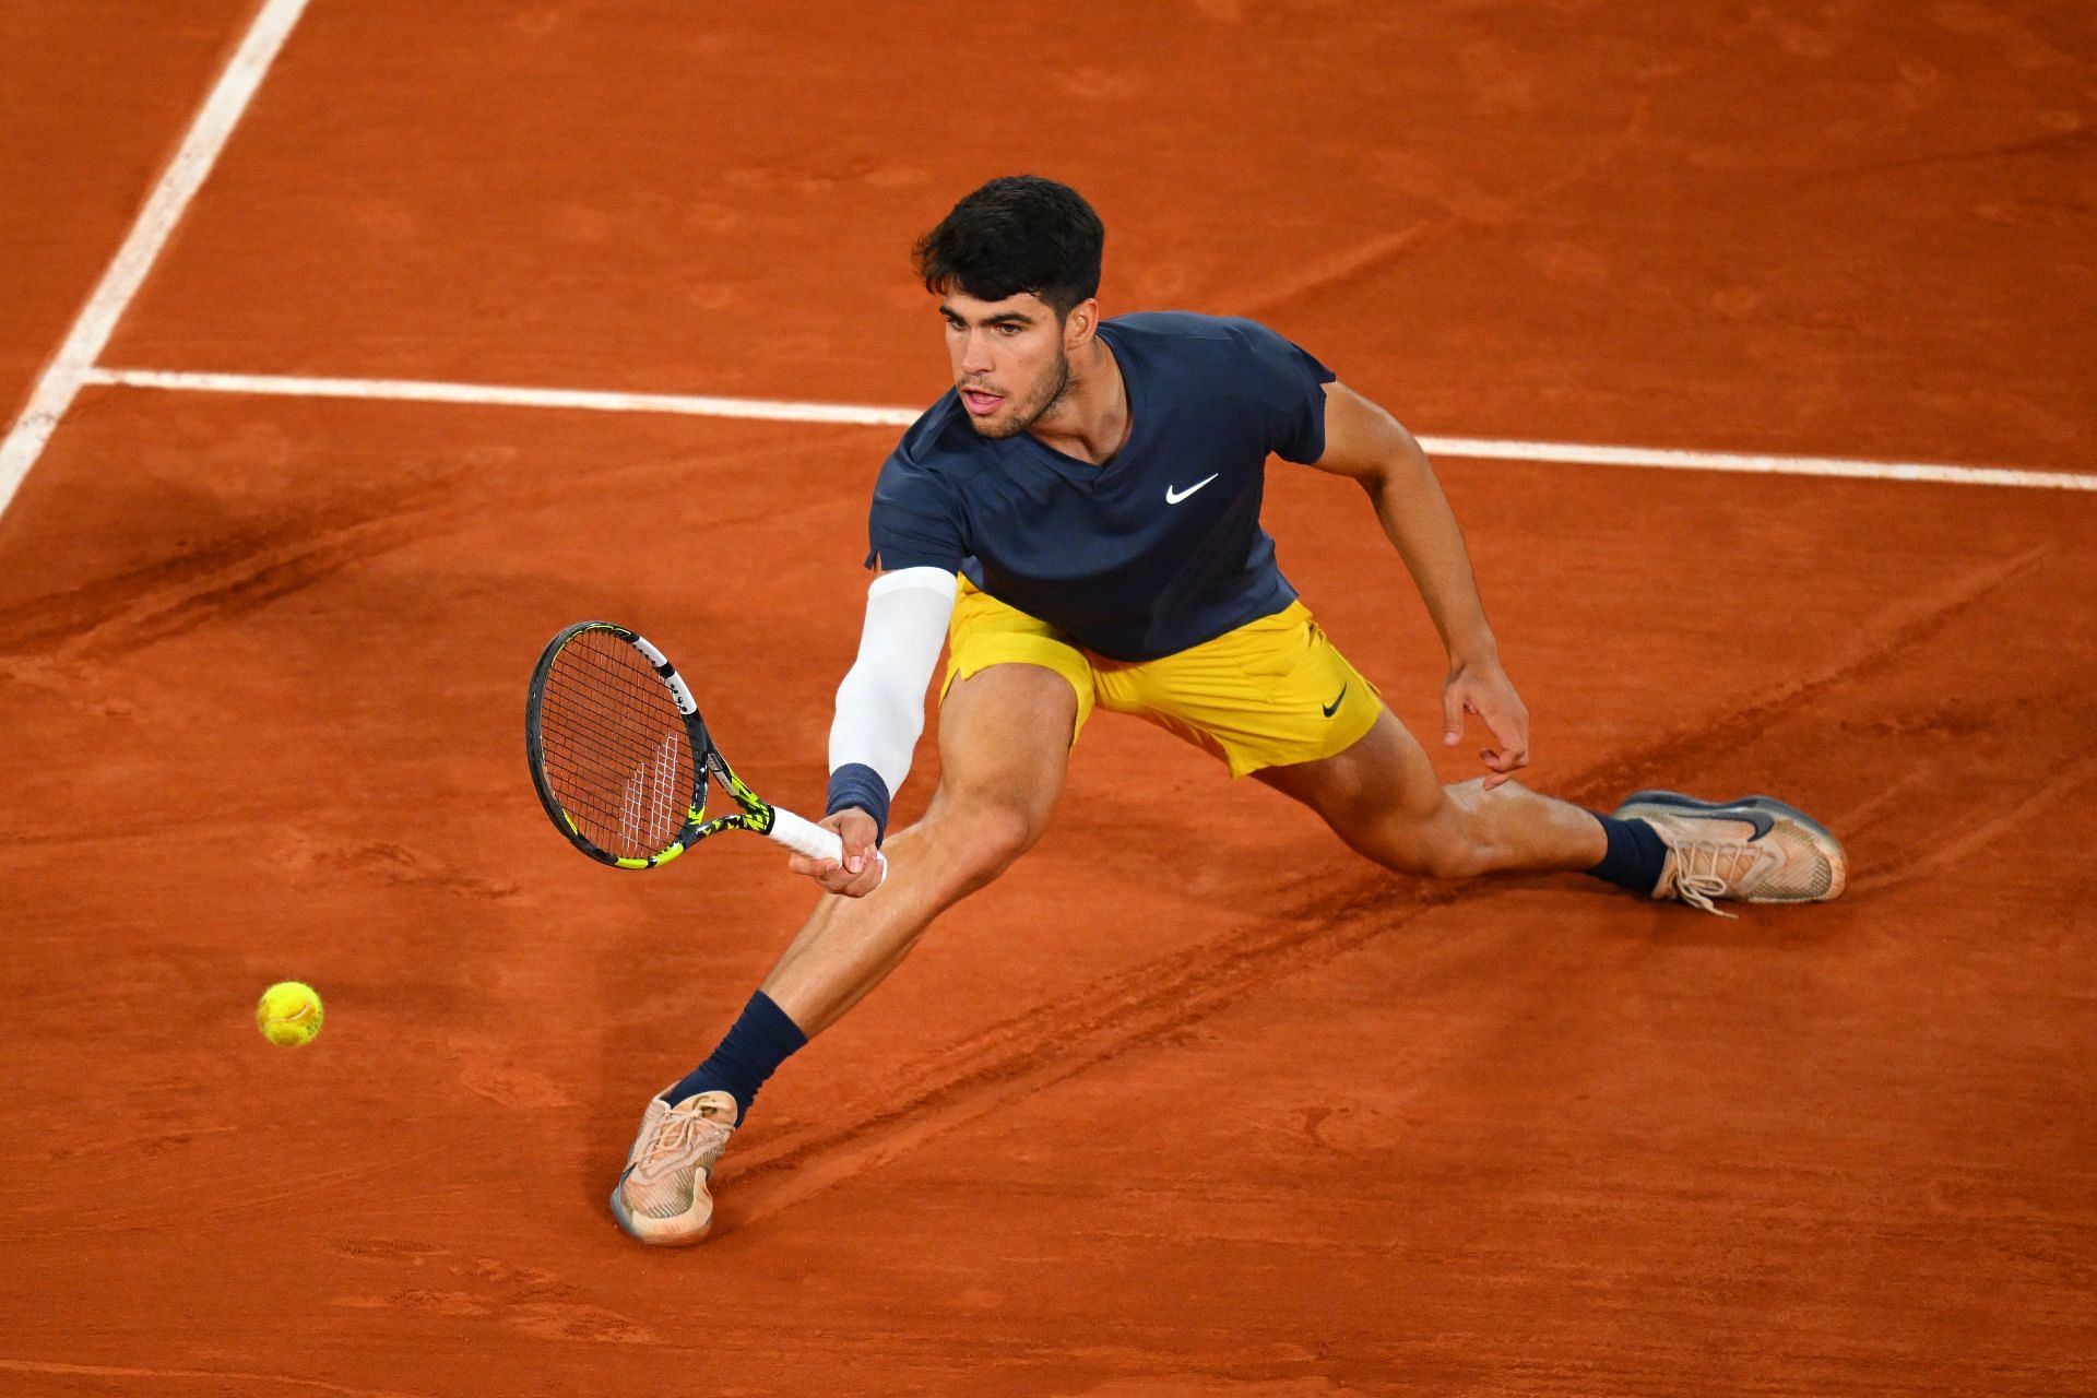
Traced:
[[721, 1048], [648, 1102], [612, 1188], [627, 1232], [667, 1245], [707, 1237], [707, 1176], [755, 1094], [709, 1086], [719, 1069], [761, 1082], [879, 985], [933, 918], [1025, 853], [1063, 792], [1076, 723], [1072, 681], [1051, 669], [992, 664], [954, 681], [939, 706], [939, 786], [925, 817], [889, 836], [887, 880], [860, 899], [824, 895]]

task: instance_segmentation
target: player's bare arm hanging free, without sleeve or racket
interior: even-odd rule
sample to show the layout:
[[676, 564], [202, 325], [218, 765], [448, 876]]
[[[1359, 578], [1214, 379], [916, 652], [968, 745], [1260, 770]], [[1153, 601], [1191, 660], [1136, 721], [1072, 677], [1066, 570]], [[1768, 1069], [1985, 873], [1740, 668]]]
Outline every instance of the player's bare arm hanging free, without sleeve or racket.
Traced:
[[1529, 765], [1529, 708], [1499, 667], [1499, 641], [1485, 620], [1464, 530], [1428, 453], [1390, 413], [1344, 384], [1325, 384], [1325, 453], [1313, 465], [1369, 493], [1449, 650], [1443, 746], [1464, 740], [1466, 713], [1478, 715], [1497, 744], [1478, 755], [1491, 769], [1485, 786], [1499, 786]]

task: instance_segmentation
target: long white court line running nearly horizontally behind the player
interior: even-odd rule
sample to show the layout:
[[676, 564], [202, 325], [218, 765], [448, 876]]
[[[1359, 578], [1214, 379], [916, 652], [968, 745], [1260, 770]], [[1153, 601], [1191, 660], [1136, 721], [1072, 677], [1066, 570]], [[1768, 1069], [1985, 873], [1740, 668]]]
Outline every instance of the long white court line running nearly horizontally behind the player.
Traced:
[[[753, 417], [761, 421], [860, 423], [872, 428], [908, 428], [921, 413], [921, 409], [881, 409], [849, 402], [776, 402], [770, 398], [619, 394], [585, 388], [503, 388], [495, 384], [432, 384], [424, 379], [310, 379], [268, 373], [170, 373], [161, 369], [88, 369], [82, 373], [82, 381], [212, 394], [380, 398], [401, 402], [484, 402], [528, 409]], [[1665, 451], [1655, 446], [1585, 446], [1575, 442], [1497, 442], [1468, 436], [1424, 436], [1420, 438], [1420, 444], [1436, 457], [1476, 457], [1485, 461], [1642, 465], [1678, 472], [1847, 476], [1856, 480], [1931, 480], [1963, 486], [2022, 486], [2028, 490], [2097, 490], [2097, 476], [2078, 476], [2072, 472], [2026, 472], [2001, 465], [1858, 461], [1847, 457], [1768, 457], [1726, 451]]]

